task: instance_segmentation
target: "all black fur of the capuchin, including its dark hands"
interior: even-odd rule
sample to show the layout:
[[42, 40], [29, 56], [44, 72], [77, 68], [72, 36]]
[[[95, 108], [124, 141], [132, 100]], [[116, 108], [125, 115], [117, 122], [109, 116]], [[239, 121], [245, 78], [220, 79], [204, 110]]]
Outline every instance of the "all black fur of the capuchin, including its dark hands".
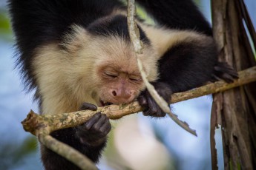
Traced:
[[[13, 31], [16, 35], [16, 48], [19, 52], [17, 64], [21, 67], [25, 86], [37, 88], [32, 67], [33, 52], [44, 44], [63, 41], [63, 35], [70, 33], [70, 26], [85, 27], [92, 35], [110, 34], [128, 38], [127, 21], [124, 16], [111, 16], [108, 21], [99, 18], [110, 15], [115, 8], [124, 6], [117, 0], [8, 0]], [[169, 29], [194, 30], [211, 35], [211, 27], [191, 0], [138, 0], [145, 10], [160, 25]], [[140, 28], [142, 41], [150, 44]], [[228, 74], [225, 74], [225, 72]], [[154, 86], [165, 101], [172, 92], [181, 92], [204, 84], [206, 81], [235, 77], [232, 70], [217, 63], [214, 41], [180, 43], [171, 47], [159, 61], [160, 80]], [[234, 74], [233, 74], [234, 73]], [[229, 76], [231, 75], [231, 76]], [[38, 91], [39, 89], [36, 89]], [[41, 103], [42, 96], [35, 98]], [[141, 93], [139, 102], [145, 107], [144, 115], [163, 117], [147, 90]], [[95, 106], [83, 104], [82, 109], [95, 110]], [[105, 115], [96, 114], [87, 123], [76, 128], [62, 129], [51, 135], [78, 149], [82, 154], [97, 162], [105, 147], [106, 135], [111, 129]], [[45, 169], [77, 169], [59, 155], [42, 146], [42, 161]]]

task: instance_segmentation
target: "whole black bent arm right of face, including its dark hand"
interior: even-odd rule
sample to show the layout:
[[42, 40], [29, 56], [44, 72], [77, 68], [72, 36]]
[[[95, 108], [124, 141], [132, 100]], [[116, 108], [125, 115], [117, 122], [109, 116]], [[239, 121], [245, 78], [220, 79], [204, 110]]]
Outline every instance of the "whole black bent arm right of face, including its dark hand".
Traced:
[[[154, 86], [167, 102], [173, 92], [202, 86], [207, 81], [215, 81], [216, 78], [223, 78], [228, 82], [237, 78], [233, 69], [217, 62], [217, 50], [211, 37], [200, 35], [197, 38], [188, 38], [189, 41], [180, 41], [168, 47], [159, 61], [160, 77], [154, 82]], [[140, 105], [146, 108], [144, 115], [165, 116], [147, 90], [142, 92], [141, 96]]]

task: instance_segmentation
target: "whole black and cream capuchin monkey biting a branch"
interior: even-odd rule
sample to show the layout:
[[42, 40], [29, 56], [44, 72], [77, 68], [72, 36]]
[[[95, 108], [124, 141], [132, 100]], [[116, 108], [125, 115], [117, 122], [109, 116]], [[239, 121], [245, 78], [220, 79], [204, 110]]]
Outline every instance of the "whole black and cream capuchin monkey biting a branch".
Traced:
[[[36, 89], [42, 114], [96, 110], [139, 101], [143, 115], [164, 117], [145, 89], [128, 34], [126, 7], [117, 0], [8, 0], [16, 35], [17, 65], [28, 89]], [[191, 0], [137, 0], [155, 20], [137, 18], [142, 67], [169, 102], [183, 92], [237, 73], [217, 61], [211, 27]], [[97, 163], [111, 124], [97, 113], [75, 128], [51, 135]], [[45, 169], [78, 169], [41, 146]]]

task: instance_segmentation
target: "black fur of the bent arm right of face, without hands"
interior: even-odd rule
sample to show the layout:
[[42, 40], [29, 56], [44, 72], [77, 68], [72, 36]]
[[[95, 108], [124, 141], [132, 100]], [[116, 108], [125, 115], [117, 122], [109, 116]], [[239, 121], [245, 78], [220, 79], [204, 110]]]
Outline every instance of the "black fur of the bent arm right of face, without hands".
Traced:
[[177, 44], [165, 52], [159, 61], [160, 81], [169, 84], [172, 92], [183, 92], [201, 86], [210, 81], [217, 63], [216, 56], [214, 41], [205, 44], [193, 41]]

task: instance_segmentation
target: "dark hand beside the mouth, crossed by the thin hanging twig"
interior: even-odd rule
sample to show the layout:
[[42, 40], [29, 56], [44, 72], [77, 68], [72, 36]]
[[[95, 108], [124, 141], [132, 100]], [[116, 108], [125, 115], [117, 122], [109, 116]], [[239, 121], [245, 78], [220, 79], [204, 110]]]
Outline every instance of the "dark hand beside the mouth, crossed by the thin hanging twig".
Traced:
[[[156, 82], [152, 84], [154, 88], [157, 90], [158, 94], [162, 96], [162, 98], [167, 102], [170, 103], [171, 99], [171, 88], [168, 84]], [[138, 97], [138, 101], [140, 106], [144, 107], [143, 115], [145, 116], [152, 116], [152, 117], [164, 117], [166, 115], [160, 106], [154, 101], [154, 98], [148, 92], [148, 89], [145, 89], [143, 92], [140, 93]]]

